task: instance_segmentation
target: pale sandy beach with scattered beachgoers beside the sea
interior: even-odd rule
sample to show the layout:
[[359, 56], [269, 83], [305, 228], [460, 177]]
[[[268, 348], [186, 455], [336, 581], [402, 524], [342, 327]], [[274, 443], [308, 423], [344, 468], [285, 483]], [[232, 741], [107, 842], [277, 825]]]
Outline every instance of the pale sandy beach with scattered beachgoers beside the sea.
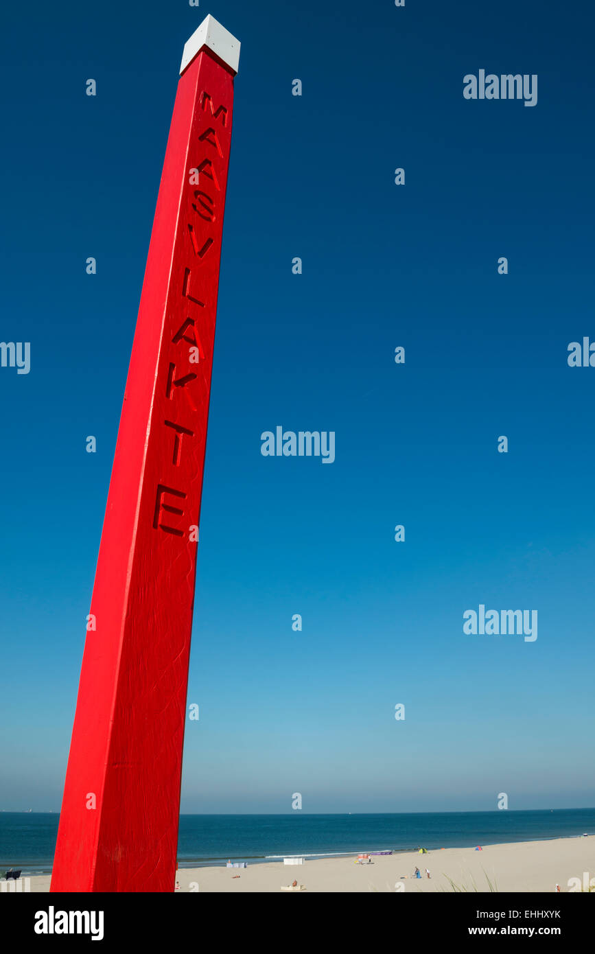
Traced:
[[[583, 882], [588, 872], [588, 878], [595, 879], [595, 837], [485, 845], [482, 851], [404, 852], [376, 856], [372, 862], [359, 865], [354, 858], [325, 858], [303, 865], [270, 861], [247, 868], [180, 868], [177, 881], [182, 892], [280, 892], [282, 884], [296, 879], [307, 891], [316, 892], [395, 892], [400, 882], [404, 887], [399, 890], [405, 893], [433, 893], [452, 892], [449, 879], [467, 891], [489, 892], [489, 879], [499, 892], [554, 893], [558, 883], [565, 893], [571, 878]], [[412, 878], [416, 865], [421, 880]], [[425, 876], [426, 867], [430, 879]], [[31, 892], [49, 890], [49, 875], [31, 878]]]

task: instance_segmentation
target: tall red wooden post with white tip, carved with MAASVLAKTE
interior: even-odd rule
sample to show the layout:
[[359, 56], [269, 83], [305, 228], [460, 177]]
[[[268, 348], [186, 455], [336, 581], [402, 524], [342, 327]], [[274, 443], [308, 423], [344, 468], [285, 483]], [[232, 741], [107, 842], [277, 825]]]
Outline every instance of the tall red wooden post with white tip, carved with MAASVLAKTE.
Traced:
[[239, 43], [211, 16], [184, 48], [97, 559], [51, 891], [174, 891], [238, 58]]

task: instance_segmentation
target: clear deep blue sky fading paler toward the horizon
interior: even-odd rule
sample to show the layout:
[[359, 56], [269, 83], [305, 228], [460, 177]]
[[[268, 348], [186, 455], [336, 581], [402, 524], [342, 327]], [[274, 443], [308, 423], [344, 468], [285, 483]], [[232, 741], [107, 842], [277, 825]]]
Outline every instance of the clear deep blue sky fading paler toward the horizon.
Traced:
[[[0, 59], [0, 340], [31, 342], [29, 374], [0, 368], [0, 808], [60, 806], [179, 60], [209, 12], [242, 50], [182, 811], [595, 805], [595, 368], [566, 361], [595, 340], [592, 8], [32, 0]], [[538, 74], [537, 105], [466, 100], [481, 69]], [[263, 457], [277, 425], [335, 431], [335, 462]], [[537, 610], [537, 640], [463, 633], [480, 604]]]

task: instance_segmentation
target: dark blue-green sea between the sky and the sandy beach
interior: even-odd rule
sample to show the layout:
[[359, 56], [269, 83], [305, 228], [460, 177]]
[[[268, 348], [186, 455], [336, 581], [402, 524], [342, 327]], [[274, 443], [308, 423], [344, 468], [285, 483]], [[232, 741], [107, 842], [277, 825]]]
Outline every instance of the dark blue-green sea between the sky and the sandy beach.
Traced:
[[[58, 813], [0, 811], [0, 875], [20, 868], [47, 874]], [[180, 868], [225, 861], [277, 861], [283, 856], [327, 858], [362, 851], [428, 851], [509, 841], [595, 835], [595, 808], [543, 811], [425, 812], [382, 815], [181, 815]]]

